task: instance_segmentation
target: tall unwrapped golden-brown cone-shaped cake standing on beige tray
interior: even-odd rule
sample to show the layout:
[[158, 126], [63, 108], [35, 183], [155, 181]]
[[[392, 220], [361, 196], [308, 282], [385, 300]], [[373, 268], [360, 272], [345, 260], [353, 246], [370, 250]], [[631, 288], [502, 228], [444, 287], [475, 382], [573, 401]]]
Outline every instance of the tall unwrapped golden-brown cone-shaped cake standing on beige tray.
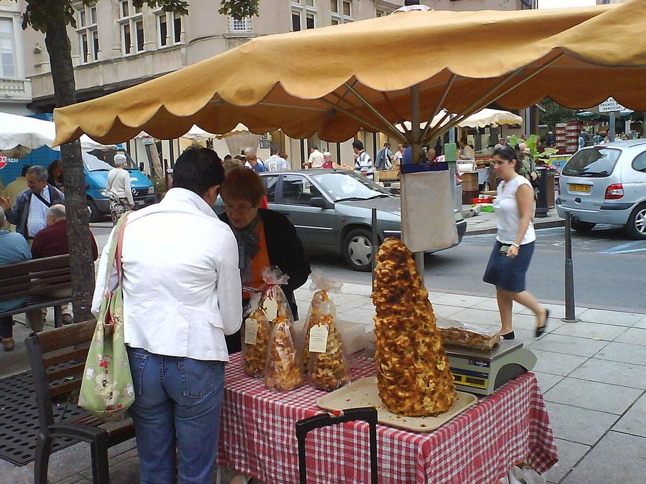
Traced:
[[453, 375], [412, 252], [399, 239], [387, 238], [375, 275], [379, 396], [395, 414], [442, 414], [455, 401]]

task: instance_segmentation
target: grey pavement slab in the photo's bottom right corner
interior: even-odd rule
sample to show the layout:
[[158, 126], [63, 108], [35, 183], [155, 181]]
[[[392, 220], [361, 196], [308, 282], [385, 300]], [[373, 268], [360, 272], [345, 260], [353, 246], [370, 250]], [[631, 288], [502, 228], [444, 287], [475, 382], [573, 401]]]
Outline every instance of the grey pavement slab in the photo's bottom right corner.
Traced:
[[642, 484], [640, 480], [623, 479], [627, 470], [642, 464], [646, 457], [646, 438], [625, 433], [608, 432], [574, 470], [563, 484]]

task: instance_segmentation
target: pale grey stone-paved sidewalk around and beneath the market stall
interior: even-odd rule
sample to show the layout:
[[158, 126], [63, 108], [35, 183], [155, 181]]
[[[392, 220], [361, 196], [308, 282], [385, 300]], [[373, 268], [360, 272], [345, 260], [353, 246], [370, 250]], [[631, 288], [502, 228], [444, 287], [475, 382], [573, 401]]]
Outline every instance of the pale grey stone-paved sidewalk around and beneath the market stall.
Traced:
[[[343, 320], [373, 325], [370, 286], [346, 284], [333, 295]], [[306, 315], [308, 284], [296, 292]], [[497, 327], [494, 298], [449, 293], [429, 295], [438, 316]], [[550, 483], [636, 484], [646, 475], [646, 315], [578, 307], [580, 322], [561, 322], [561, 303], [543, 301], [551, 310], [548, 335], [534, 340], [535, 318], [514, 307], [517, 339], [538, 356], [534, 372], [545, 396], [560, 461], [546, 473]], [[26, 330], [16, 326], [16, 352], [0, 353], [0, 373], [24, 371], [26, 354], [20, 341]], [[110, 451], [111, 483], [138, 482], [133, 441]], [[17, 468], [0, 460], [1, 482], [33, 482], [33, 464]], [[87, 446], [78, 444], [51, 458], [52, 484], [91, 483]], [[225, 473], [223, 483], [231, 475]], [[254, 481], [254, 484], [256, 481]], [[270, 483], [286, 484], [286, 483]], [[473, 483], [464, 483], [473, 484]]]

